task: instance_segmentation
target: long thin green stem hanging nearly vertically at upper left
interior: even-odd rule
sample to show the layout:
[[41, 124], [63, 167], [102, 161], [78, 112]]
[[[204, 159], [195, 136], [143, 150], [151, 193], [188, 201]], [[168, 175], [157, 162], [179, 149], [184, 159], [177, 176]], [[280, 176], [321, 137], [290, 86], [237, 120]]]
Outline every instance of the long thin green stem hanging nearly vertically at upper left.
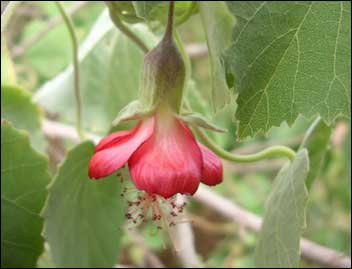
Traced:
[[76, 100], [76, 129], [77, 133], [81, 140], [84, 139], [84, 132], [82, 129], [82, 121], [81, 121], [81, 97], [79, 92], [79, 61], [78, 61], [78, 39], [75, 33], [75, 29], [73, 27], [73, 23], [71, 18], [66, 13], [63, 5], [60, 1], [55, 1], [55, 4], [64, 20], [64, 23], [67, 27], [67, 30], [70, 34], [71, 41], [72, 41], [72, 50], [73, 50], [73, 73], [74, 73], [74, 94]]

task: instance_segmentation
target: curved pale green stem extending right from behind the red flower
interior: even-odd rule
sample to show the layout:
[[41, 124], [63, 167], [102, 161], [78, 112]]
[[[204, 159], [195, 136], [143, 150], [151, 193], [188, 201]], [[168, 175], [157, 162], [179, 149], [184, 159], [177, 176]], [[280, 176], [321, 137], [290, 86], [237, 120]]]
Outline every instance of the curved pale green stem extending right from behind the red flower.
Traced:
[[249, 163], [249, 162], [260, 161], [274, 156], [285, 156], [292, 161], [296, 156], [296, 153], [292, 149], [286, 146], [272, 146], [262, 151], [259, 151], [257, 153], [248, 154], [248, 155], [233, 154], [222, 149], [217, 144], [215, 144], [203, 130], [200, 130], [198, 127], [194, 127], [194, 130], [196, 131], [201, 142], [205, 146], [211, 149], [220, 158], [229, 160], [232, 162]]

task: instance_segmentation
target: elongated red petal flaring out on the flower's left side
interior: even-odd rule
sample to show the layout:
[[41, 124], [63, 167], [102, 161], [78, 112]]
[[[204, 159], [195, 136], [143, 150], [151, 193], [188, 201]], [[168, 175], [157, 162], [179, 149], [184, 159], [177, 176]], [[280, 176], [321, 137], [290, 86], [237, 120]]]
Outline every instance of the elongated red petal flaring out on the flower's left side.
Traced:
[[[150, 118], [139, 123], [129, 134], [120, 137], [116, 135], [116, 140], [106, 138], [107, 143], [101, 146], [101, 150], [94, 153], [89, 162], [89, 177], [101, 178], [112, 174], [121, 168], [136, 151], [136, 149], [146, 141], [154, 130], [154, 118]], [[112, 143], [112, 141], [114, 141]], [[101, 141], [99, 144], [102, 144]], [[109, 146], [108, 146], [109, 145]]]

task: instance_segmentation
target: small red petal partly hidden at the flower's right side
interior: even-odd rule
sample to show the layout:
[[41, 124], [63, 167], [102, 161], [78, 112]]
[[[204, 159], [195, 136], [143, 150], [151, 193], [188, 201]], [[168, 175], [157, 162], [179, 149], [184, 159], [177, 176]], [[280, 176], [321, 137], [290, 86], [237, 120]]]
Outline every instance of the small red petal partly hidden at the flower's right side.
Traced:
[[198, 143], [203, 156], [202, 183], [214, 186], [222, 182], [222, 162], [210, 149]]

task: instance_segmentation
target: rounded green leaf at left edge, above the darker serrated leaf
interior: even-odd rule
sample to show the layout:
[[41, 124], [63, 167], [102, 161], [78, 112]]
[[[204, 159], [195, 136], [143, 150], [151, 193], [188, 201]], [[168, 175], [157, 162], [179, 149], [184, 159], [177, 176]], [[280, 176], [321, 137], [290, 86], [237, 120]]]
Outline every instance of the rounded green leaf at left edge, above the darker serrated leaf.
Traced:
[[30, 92], [16, 86], [1, 86], [1, 117], [14, 127], [29, 133], [33, 147], [44, 151], [44, 135], [40, 128], [41, 113]]

